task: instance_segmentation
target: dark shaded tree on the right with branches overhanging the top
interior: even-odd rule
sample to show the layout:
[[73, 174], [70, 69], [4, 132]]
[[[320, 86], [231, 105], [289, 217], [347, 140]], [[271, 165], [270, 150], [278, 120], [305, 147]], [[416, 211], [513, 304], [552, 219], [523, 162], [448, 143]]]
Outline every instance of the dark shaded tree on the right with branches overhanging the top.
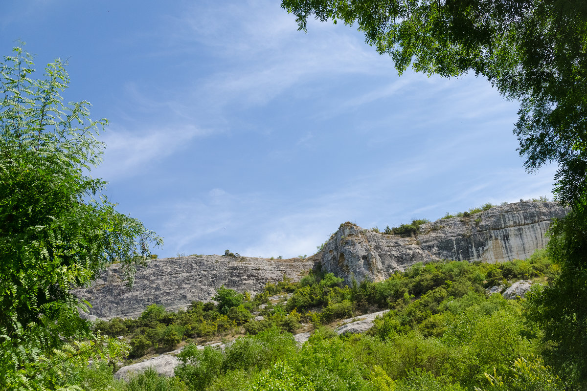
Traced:
[[549, 359], [585, 387], [587, 367], [587, 5], [584, 0], [282, 0], [307, 31], [312, 15], [357, 23], [402, 74], [482, 75], [518, 100], [514, 134], [524, 166], [555, 162], [555, 198], [571, 206], [548, 253], [561, 276], [534, 295]]

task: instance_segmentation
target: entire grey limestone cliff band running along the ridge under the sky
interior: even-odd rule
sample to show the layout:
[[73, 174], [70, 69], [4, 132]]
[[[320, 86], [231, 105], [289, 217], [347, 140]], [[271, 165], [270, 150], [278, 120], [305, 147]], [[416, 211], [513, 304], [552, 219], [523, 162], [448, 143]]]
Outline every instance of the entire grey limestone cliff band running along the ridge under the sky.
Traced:
[[565, 214], [554, 202], [518, 202], [424, 224], [416, 237], [385, 235], [345, 223], [323, 251], [306, 260], [218, 255], [154, 260], [137, 270], [132, 289], [121, 280], [121, 267], [113, 265], [92, 287], [73, 292], [92, 304], [91, 315], [136, 317], [153, 303], [177, 310], [193, 300], [210, 300], [221, 285], [257, 293], [268, 281], [281, 281], [284, 274], [299, 280], [315, 262], [350, 283], [353, 276], [357, 281], [383, 280], [417, 262], [525, 259], [545, 246], [544, 234], [552, 219]]

